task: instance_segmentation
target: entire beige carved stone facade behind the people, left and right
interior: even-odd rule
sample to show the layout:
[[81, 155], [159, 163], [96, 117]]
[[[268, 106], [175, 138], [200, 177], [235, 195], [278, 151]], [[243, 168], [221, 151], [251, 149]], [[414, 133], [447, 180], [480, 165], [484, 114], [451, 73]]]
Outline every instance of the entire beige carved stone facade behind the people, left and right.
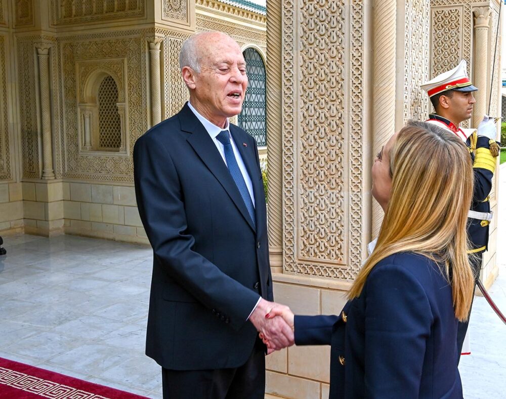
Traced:
[[[480, 82], [473, 121], [489, 98], [499, 115], [499, 4], [267, 0], [266, 16], [229, 0], [0, 0], [0, 234], [147, 243], [134, 143], [187, 99], [184, 39], [225, 31], [268, 60], [275, 299], [296, 313], [337, 313], [383, 217], [370, 195], [373, 154], [407, 119], [427, 117], [420, 84], [466, 59]], [[108, 124], [102, 98], [117, 107]], [[495, 210], [495, 189], [490, 198]], [[495, 216], [488, 286], [496, 226]], [[327, 397], [328, 366], [328, 347], [274, 353], [267, 393]]]

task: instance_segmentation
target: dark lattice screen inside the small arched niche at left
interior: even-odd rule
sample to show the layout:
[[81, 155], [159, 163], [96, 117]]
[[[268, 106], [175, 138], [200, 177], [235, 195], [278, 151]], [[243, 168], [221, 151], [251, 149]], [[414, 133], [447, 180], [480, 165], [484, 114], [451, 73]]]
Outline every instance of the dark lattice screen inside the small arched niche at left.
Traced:
[[100, 148], [119, 149], [121, 147], [121, 119], [119, 117], [118, 88], [112, 76], [104, 77], [98, 90], [98, 121]]

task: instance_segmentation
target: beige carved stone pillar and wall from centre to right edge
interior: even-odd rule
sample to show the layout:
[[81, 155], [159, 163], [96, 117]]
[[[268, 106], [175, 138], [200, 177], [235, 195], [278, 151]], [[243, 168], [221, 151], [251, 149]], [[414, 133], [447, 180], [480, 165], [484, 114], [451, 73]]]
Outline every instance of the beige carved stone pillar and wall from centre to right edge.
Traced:
[[[499, 55], [493, 65], [499, 5], [267, 0], [276, 301], [299, 314], [340, 311], [383, 218], [370, 196], [373, 156], [407, 119], [427, 118], [431, 106], [421, 83], [466, 59], [481, 85], [473, 121], [488, 112], [491, 92], [490, 114], [499, 115]], [[495, 190], [490, 198], [495, 210]], [[498, 271], [496, 225], [495, 217], [482, 272], [488, 285]], [[328, 347], [292, 347], [267, 362], [269, 394], [328, 397]]]

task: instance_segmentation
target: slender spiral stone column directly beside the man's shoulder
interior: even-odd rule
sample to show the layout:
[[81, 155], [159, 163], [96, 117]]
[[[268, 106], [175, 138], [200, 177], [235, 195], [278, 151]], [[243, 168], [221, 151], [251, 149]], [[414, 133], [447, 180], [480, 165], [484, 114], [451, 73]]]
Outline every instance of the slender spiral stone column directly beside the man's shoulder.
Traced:
[[281, 2], [267, 0], [268, 236], [272, 271], [283, 270], [283, 179], [281, 123]]

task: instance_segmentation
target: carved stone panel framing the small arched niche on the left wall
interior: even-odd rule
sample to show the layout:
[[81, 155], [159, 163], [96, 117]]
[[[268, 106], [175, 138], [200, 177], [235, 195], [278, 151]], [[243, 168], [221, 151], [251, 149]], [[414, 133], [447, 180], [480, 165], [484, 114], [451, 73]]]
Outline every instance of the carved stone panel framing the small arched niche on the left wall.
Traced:
[[[61, 144], [66, 158], [63, 177], [132, 181], [131, 151], [147, 125], [145, 43], [145, 32], [140, 30], [70, 36], [59, 43], [63, 88], [61, 106], [64, 115], [61, 121], [61, 131], [64, 132]], [[81, 65], [85, 64], [86, 68], [81, 74]], [[79, 150], [80, 121], [75, 101], [78, 98], [76, 90], [86, 83], [88, 73], [100, 68], [109, 69], [113, 77], [118, 79], [118, 89], [124, 90], [127, 137], [123, 153], [88, 154]], [[87, 69], [90, 70], [86, 72]]]

